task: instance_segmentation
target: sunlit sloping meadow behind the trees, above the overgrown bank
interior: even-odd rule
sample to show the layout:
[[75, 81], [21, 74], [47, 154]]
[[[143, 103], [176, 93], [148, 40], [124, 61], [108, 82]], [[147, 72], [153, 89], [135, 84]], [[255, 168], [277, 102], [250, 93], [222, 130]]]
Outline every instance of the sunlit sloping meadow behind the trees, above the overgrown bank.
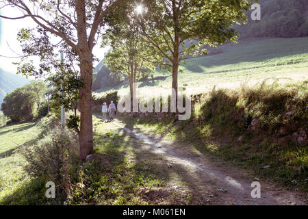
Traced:
[[[179, 88], [187, 94], [196, 94], [216, 88], [235, 88], [246, 83], [253, 85], [266, 78], [284, 81], [304, 81], [308, 78], [308, 38], [258, 39], [222, 46], [223, 53], [186, 60], [181, 65]], [[170, 93], [170, 73], [155, 72], [155, 81], [138, 83], [142, 94]], [[153, 83], [154, 82], [154, 83]], [[128, 83], [96, 92], [118, 90], [128, 93]]]

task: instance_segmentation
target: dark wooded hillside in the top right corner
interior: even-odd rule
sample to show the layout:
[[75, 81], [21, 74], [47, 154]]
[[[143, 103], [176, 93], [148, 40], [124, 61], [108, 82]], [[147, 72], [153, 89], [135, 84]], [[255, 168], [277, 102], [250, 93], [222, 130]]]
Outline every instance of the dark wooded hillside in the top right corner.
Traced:
[[261, 20], [236, 27], [240, 38], [308, 36], [308, 0], [259, 0]]

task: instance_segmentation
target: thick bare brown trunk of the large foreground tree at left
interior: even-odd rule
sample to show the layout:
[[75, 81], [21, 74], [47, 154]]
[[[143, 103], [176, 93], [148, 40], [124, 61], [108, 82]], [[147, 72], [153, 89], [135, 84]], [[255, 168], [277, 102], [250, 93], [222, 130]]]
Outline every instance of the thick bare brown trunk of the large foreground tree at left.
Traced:
[[92, 53], [84, 54], [80, 60], [80, 75], [84, 86], [80, 88], [81, 124], [79, 130], [79, 157], [86, 156], [93, 151], [92, 132]]

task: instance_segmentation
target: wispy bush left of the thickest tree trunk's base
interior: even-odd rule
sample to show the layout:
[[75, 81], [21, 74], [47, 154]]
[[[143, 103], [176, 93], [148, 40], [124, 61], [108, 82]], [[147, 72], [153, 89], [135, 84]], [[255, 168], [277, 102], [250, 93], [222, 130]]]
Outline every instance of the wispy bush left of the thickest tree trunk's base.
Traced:
[[77, 136], [71, 131], [62, 131], [59, 126], [49, 127], [48, 132], [38, 143], [20, 149], [27, 161], [23, 168], [31, 177], [53, 181], [55, 201], [63, 203], [70, 195], [70, 172], [79, 162]]

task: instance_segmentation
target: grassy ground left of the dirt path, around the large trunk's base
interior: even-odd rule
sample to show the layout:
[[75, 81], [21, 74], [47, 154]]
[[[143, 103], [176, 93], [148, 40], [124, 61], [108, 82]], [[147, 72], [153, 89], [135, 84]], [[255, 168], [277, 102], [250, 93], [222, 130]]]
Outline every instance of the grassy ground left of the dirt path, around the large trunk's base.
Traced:
[[[1, 127], [1, 151], [14, 151], [21, 146], [29, 151], [31, 144], [42, 146], [44, 142], [51, 142], [52, 130], [49, 129], [49, 121], [49, 118], [42, 118], [38, 123]], [[157, 172], [152, 163], [146, 162], [144, 156], [149, 154], [144, 151], [137, 151], [136, 154], [133, 147], [140, 143], [129, 138], [124, 131], [115, 129], [111, 123], [102, 123], [101, 119], [95, 116], [93, 121], [96, 158], [94, 161], [77, 163], [74, 171], [70, 172], [74, 177], [70, 179], [72, 187], [66, 203], [151, 205], [158, 202], [153, 197], [147, 197], [147, 194], [152, 190], [156, 194], [164, 189], [165, 172]], [[18, 141], [11, 144], [14, 139]], [[107, 155], [104, 155], [106, 153]], [[21, 151], [0, 157], [0, 205], [58, 205], [57, 200], [45, 198], [44, 194], [45, 183], [53, 179], [30, 177], [24, 170], [26, 165], [27, 161]], [[177, 197], [179, 195], [172, 194], [168, 200], [160, 198], [159, 201], [166, 205], [179, 204]], [[181, 198], [185, 203], [185, 197]]]

